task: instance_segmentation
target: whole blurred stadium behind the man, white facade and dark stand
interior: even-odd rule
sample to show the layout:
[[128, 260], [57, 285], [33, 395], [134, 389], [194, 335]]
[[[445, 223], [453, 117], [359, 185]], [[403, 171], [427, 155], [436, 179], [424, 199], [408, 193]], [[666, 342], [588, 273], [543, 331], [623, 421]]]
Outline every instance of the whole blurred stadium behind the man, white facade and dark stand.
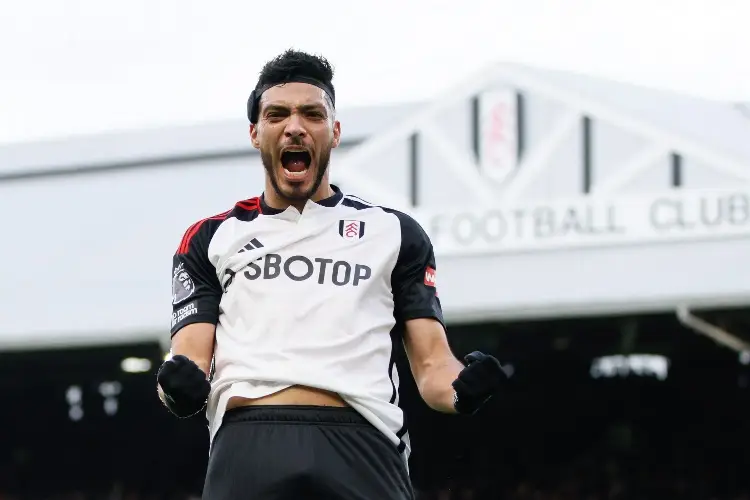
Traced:
[[[512, 370], [464, 419], [401, 359], [420, 498], [750, 498], [745, 110], [497, 65], [339, 118], [334, 182], [423, 224], [456, 353]], [[246, 127], [0, 147], [0, 499], [199, 498], [154, 374], [183, 231], [262, 191]]]

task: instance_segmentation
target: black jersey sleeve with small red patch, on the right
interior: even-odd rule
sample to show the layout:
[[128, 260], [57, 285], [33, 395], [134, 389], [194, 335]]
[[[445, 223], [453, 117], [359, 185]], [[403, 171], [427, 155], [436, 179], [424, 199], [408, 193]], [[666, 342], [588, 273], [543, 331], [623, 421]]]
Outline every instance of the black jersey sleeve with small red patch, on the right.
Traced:
[[432, 242], [417, 221], [394, 213], [401, 223], [401, 249], [391, 276], [396, 321], [433, 318], [445, 327], [435, 288], [437, 265]]

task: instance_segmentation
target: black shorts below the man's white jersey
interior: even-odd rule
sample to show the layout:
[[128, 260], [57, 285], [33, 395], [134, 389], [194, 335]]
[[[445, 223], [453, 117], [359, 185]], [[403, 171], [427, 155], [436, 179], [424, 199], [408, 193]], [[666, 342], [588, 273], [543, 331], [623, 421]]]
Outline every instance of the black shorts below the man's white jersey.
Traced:
[[253, 406], [227, 411], [204, 500], [412, 500], [402, 456], [351, 408]]

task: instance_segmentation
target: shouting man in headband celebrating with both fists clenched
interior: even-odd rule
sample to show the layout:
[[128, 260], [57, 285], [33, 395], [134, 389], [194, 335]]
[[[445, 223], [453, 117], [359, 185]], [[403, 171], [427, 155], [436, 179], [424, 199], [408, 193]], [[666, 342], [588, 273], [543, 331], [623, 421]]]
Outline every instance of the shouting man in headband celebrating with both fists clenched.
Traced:
[[204, 407], [209, 500], [411, 499], [395, 349], [433, 409], [475, 412], [505, 376], [448, 345], [429, 238], [329, 183], [333, 70], [287, 51], [248, 100], [259, 198], [193, 224], [174, 255], [172, 358], [159, 392]]

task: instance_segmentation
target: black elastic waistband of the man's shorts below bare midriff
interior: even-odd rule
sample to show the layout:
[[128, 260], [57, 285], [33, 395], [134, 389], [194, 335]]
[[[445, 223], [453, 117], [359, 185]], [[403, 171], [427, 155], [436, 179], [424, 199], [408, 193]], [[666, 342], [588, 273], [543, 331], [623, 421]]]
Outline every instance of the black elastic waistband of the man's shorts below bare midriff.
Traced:
[[354, 408], [305, 405], [240, 406], [227, 410], [222, 421], [370, 425]]

